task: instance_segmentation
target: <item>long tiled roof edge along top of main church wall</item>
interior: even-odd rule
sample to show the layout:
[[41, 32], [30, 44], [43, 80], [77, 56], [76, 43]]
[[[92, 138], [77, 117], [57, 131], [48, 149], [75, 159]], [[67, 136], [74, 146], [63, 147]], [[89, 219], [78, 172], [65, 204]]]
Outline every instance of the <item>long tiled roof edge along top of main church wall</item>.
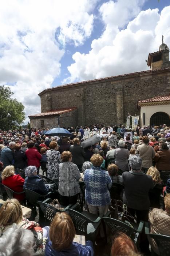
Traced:
[[98, 82], [98, 81], [103, 81], [103, 80], [108, 80], [108, 79], [114, 79], [114, 78], [119, 78], [119, 77], [124, 77], [124, 76], [131, 76], [131, 75], [140, 75], [140, 74], [153, 74], [153, 73], [157, 73], [161, 70], [170, 70], [170, 67], [168, 68], [160, 68], [160, 69], [155, 69], [155, 70], [146, 70], [146, 71], [139, 71], [139, 72], [134, 72], [134, 73], [129, 73], [129, 74], [123, 74], [123, 75], [118, 75], [118, 76], [109, 76], [109, 77], [105, 77], [105, 78], [99, 78], [99, 79], [93, 79], [93, 80], [87, 80], [87, 81], [82, 81], [82, 82], [76, 82], [76, 83], [68, 83], [68, 84], [63, 84], [60, 86], [55, 86], [55, 87], [51, 87], [48, 89], [45, 89], [44, 91], [41, 91], [41, 93], [39, 93], [39, 96], [49, 90], [54, 90], [57, 88], [63, 88], [63, 87], [71, 87], [75, 84], [84, 84], [84, 83], [90, 83], [90, 82]]

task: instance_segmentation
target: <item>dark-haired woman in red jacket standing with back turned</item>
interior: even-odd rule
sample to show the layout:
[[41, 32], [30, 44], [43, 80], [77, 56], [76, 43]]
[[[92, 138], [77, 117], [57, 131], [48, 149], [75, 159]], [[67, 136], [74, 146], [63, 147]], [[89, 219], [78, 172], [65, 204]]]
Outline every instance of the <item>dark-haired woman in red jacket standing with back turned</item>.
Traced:
[[28, 166], [36, 166], [37, 170], [39, 172], [40, 169], [40, 160], [41, 160], [41, 154], [38, 152], [38, 150], [34, 147], [34, 142], [31, 140], [27, 144], [28, 149], [25, 151], [25, 155], [27, 156], [28, 160]]

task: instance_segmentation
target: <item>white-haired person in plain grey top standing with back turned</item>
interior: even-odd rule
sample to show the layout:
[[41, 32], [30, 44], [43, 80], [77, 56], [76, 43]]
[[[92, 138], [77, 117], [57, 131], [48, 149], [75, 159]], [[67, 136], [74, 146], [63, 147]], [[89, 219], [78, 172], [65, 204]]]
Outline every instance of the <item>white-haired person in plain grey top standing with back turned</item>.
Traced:
[[129, 158], [129, 150], [124, 148], [124, 140], [119, 140], [118, 145], [119, 148], [116, 148], [114, 152], [115, 165], [117, 165], [118, 168], [121, 169], [123, 172], [129, 171], [130, 167], [127, 161]]

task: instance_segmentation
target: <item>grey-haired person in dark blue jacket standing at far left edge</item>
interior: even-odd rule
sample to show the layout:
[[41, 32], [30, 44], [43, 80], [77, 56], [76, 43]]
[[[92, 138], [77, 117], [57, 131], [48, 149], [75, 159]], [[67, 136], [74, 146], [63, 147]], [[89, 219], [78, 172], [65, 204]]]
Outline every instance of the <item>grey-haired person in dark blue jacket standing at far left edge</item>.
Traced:
[[3, 162], [4, 168], [8, 165], [13, 165], [13, 152], [12, 150], [15, 147], [15, 142], [10, 142], [8, 147], [3, 148], [1, 151], [1, 159], [0, 161]]

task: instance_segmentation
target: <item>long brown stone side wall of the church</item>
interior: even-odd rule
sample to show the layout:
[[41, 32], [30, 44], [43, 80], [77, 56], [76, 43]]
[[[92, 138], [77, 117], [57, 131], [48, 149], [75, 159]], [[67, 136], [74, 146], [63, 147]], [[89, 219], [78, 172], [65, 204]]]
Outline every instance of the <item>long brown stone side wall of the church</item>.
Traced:
[[47, 90], [41, 95], [41, 112], [49, 110], [51, 97], [53, 110], [77, 107], [77, 114], [65, 121], [68, 126], [114, 125], [124, 123], [128, 112], [135, 115], [138, 101], [167, 93], [170, 72], [134, 74]]

